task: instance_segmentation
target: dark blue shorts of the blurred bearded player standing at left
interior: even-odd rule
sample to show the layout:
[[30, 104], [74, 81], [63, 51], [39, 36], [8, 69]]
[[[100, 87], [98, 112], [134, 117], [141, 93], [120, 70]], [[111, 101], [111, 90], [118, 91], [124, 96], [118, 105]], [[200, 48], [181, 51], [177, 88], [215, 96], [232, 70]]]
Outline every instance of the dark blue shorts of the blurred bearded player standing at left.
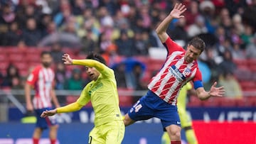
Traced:
[[43, 111], [50, 110], [50, 108], [44, 108], [44, 109], [35, 109], [36, 113], [36, 127], [46, 129], [50, 126], [57, 125], [57, 122], [55, 120], [55, 116], [47, 116], [46, 118], [41, 118], [41, 113]]

